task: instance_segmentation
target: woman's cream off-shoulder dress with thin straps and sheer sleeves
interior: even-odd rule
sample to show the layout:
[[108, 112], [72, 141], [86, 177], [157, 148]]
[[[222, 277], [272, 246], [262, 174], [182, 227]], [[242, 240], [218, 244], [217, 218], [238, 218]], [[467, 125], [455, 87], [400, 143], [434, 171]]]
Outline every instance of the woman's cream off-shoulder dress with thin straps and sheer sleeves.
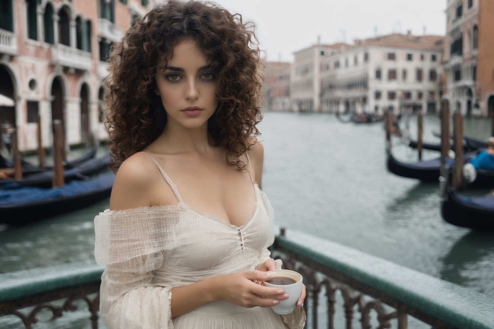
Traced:
[[302, 308], [280, 316], [270, 307], [244, 308], [226, 301], [171, 318], [172, 288], [250, 271], [269, 258], [274, 214], [266, 194], [253, 183], [254, 214], [240, 227], [225, 223], [185, 204], [153, 161], [175, 192], [177, 205], [105, 210], [94, 219], [95, 258], [106, 265], [100, 313], [108, 328], [302, 329]]

